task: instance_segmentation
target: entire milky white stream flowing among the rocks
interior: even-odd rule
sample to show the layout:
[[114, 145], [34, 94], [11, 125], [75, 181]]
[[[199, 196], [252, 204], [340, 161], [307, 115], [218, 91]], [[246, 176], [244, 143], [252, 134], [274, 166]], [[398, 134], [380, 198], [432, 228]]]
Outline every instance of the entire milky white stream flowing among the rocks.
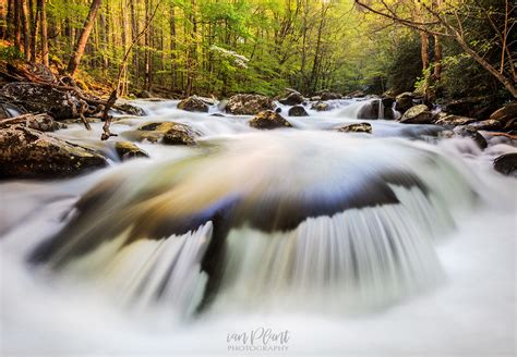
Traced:
[[369, 100], [275, 131], [136, 103], [113, 140], [175, 121], [199, 145], [121, 163], [100, 123], [70, 125], [109, 168], [0, 184], [3, 354], [515, 353], [517, 184], [491, 167], [510, 143], [333, 131]]

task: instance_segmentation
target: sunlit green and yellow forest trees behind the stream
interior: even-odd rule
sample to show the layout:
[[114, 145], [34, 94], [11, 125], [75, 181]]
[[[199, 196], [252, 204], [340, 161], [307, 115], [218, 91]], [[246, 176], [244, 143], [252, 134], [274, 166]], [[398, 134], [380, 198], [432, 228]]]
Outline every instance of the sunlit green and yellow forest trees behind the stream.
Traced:
[[0, 7], [2, 60], [49, 63], [107, 87], [120, 78], [122, 96], [276, 95], [286, 87], [306, 95], [516, 96], [515, 5], [507, 0], [8, 0]]

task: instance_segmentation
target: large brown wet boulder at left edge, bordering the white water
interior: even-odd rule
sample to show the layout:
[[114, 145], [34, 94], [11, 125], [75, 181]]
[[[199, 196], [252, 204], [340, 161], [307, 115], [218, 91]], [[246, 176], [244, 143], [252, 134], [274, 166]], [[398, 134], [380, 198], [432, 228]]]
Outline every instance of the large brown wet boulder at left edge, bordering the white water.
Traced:
[[0, 131], [1, 178], [58, 178], [106, 165], [95, 151], [33, 128]]

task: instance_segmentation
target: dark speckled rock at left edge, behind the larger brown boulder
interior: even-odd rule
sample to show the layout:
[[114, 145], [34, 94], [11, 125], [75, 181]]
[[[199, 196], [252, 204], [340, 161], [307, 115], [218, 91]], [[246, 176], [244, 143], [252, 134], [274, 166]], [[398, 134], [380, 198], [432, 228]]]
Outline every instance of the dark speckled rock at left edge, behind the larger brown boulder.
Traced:
[[49, 113], [56, 120], [76, 118], [77, 113], [72, 106], [80, 108], [77, 98], [58, 90], [46, 84], [15, 82], [9, 83], [0, 90], [0, 95], [14, 102], [23, 103], [23, 108], [31, 112]]

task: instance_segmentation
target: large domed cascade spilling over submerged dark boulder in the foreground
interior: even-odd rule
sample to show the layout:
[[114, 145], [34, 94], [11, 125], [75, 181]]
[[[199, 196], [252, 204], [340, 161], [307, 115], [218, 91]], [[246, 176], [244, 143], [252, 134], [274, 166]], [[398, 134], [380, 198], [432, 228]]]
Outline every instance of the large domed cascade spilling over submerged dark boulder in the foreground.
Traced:
[[29, 261], [178, 318], [286, 304], [351, 312], [436, 285], [433, 241], [454, 226], [457, 201], [474, 199], [457, 169], [428, 146], [294, 134], [127, 167]]

